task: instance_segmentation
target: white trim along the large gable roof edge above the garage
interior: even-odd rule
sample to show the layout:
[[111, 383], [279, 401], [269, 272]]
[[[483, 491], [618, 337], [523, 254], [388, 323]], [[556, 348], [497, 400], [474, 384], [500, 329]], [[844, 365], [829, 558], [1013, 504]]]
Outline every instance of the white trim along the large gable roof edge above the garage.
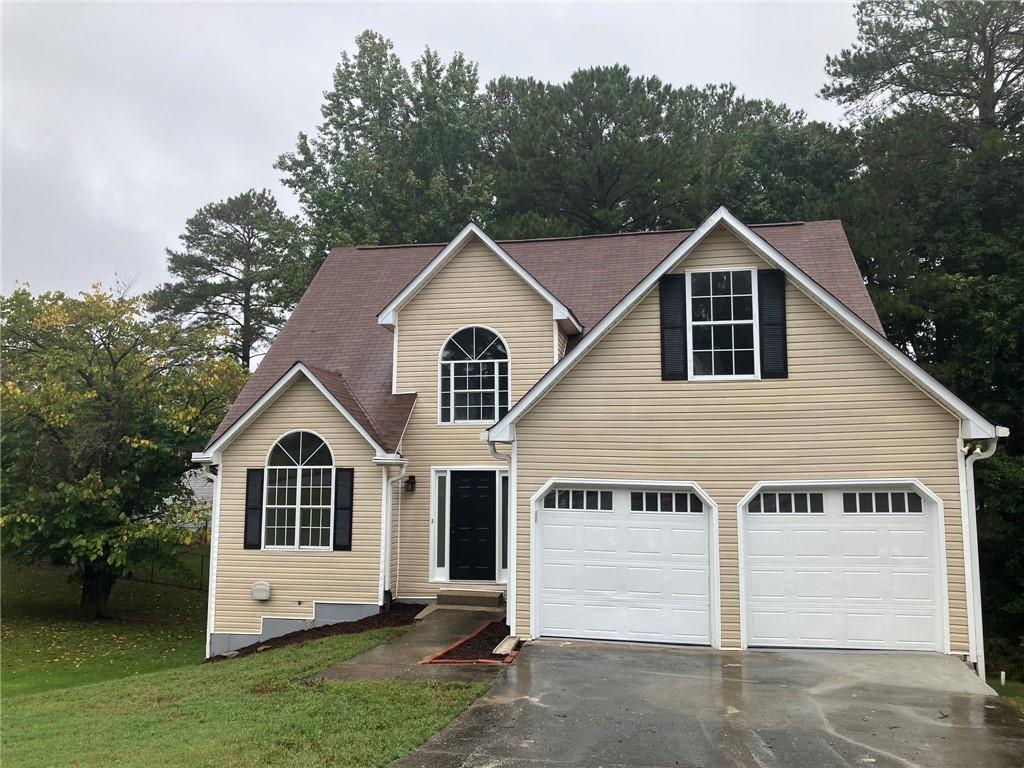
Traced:
[[885, 360], [903, 374], [926, 394], [948, 409], [962, 420], [961, 436], [965, 438], [1004, 436], [1005, 429], [996, 427], [981, 414], [968, 406], [964, 400], [940, 384], [934, 377], [925, 372], [918, 364], [900, 352], [884, 336], [868, 326], [863, 319], [849, 309], [820, 285], [811, 280], [802, 269], [793, 264], [782, 254], [769, 245], [764, 238], [752, 230], [739, 219], [733, 216], [724, 206], [706, 218], [689, 238], [683, 241], [657, 266], [655, 266], [632, 291], [624, 296], [617, 304], [594, 329], [584, 336], [583, 340], [572, 350], [562, 357], [515, 406], [487, 430], [487, 439], [494, 442], [510, 442], [515, 439], [515, 423], [522, 418], [561, 378], [587, 353], [592, 346], [604, 338], [605, 334], [617, 325], [647, 293], [657, 284], [663, 274], [674, 268], [686, 255], [692, 251], [719, 224], [726, 226], [733, 234], [743, 241], [755, 253], [760, 254], [769, 263], [774, 264], [797, 287], [807, 294], [817, 304], [828, 310], [850, 331], [871, 347]]

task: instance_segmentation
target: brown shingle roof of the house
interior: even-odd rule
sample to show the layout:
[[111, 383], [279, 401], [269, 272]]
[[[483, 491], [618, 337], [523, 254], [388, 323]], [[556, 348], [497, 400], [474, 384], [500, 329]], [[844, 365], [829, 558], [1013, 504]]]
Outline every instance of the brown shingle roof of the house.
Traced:
[[[751, 228], [884, 333], [841, 222]], [[691, 231], [504, 241], [501, 246], [572, 310], [586, 333]], [[377, 324], [377, 313], [443, 247], [331, 251], [211, 442], [289, 369], [303, 362], [375, 439], [395, 451], [415, 395], [391, 394], [391, 332]]]

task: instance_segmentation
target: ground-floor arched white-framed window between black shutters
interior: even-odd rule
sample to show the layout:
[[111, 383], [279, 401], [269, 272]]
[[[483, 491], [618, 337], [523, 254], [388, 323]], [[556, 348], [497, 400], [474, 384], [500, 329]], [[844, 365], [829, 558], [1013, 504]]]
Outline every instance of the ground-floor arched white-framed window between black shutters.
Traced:
[[266, 460], [263, 546], [330, 549], [334, 495], [331, 449], [312, 432], [290, 432]]

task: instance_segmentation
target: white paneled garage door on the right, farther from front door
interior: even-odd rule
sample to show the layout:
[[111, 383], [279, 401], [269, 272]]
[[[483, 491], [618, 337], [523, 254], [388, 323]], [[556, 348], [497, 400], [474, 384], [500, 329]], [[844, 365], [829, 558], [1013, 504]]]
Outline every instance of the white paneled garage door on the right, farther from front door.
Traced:
[[750, 646], [940, 650], [938, 515], [899, 488], [772, 492], [743, 513]]

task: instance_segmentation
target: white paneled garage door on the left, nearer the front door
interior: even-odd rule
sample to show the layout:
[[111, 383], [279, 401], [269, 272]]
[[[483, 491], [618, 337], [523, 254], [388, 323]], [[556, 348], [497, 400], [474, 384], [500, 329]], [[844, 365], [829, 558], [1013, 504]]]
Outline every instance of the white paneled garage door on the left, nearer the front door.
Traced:
[[541, 635], [711, 642], [710, 515], [695, 494], [557, 488], [538, 515]]

